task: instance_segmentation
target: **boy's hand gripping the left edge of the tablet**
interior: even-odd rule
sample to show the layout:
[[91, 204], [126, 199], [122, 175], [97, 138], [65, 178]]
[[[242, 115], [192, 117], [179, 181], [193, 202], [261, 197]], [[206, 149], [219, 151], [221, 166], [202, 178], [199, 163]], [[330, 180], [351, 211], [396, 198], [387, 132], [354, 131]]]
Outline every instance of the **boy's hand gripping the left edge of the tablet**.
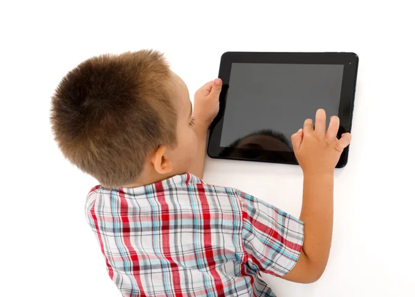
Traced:
[[219, 78], [208, 82], [194, 94], [193, 118], [195, 126], [208, 129], [219, 113], [219, 94], [222, 81]]

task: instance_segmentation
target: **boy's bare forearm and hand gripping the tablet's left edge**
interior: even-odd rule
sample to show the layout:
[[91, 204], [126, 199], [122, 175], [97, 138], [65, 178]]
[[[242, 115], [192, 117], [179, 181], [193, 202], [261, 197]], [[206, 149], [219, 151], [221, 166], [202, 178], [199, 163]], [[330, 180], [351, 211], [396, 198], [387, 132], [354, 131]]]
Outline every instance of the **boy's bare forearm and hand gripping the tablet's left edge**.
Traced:
[[222, 81], [214, 79], [208, 82], [194, 94], [193, 108], [193, 131], [197, 137], [197, 153], [189, 173], [203, 178], [203, 170], [205, 169], [206, 142], [208, 138], [208, 129], [214, 117], [219, 112], [219, 95], [221, 94]]

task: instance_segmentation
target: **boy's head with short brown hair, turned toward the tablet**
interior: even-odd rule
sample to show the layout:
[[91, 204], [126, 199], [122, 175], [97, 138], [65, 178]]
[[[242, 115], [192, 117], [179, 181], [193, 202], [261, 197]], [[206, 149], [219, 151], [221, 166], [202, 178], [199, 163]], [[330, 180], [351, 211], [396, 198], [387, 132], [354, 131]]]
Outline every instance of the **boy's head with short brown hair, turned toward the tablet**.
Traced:
[[196, 154], [187, 87], [152, 50], [82, 62], [57, 87], [50, 120], [65, 157], [106, 187], [184, 173]]

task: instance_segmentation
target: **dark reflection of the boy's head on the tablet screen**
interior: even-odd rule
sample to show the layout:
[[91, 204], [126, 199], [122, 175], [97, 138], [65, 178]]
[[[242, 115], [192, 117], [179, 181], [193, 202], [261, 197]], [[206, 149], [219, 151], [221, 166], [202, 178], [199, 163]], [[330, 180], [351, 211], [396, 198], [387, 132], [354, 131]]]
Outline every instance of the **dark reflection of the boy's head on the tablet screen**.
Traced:
[[261, 159], [269, 154], [292, 152], [290, 142], [277, 131], [264, 129], [241, 137], [221, 152], [222, 156], [248, 159]]

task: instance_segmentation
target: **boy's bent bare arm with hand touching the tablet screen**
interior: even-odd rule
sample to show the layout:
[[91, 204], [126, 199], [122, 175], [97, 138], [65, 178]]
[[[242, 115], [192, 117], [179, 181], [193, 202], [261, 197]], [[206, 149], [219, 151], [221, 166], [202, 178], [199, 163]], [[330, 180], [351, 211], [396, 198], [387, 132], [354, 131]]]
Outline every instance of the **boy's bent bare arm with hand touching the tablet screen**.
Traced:
[[292, 137], [297, 160], [304, 172], [303, 203], [300, 220], [304, 222], [304, 243], [295, 267], [282, 278], [293, 282], [314, 282], [326, 268], [333, 231], [333, 173], [350, 133], [340, 140], [336, 135], [339, 118], [331, 117], [326, 131], [326, 113], [320, 109], [304, 130]]

